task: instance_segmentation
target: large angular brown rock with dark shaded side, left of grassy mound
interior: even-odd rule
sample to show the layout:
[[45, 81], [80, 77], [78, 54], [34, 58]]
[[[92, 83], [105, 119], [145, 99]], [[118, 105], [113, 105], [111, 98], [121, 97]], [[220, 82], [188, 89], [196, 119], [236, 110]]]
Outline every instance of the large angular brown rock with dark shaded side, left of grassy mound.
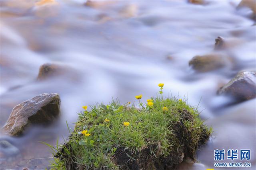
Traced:
[[60, 96], [40, 94], [12, 109], [4, 130], [12, 136], [21, 135], [30, 124], [47, 124], [60, 114]]

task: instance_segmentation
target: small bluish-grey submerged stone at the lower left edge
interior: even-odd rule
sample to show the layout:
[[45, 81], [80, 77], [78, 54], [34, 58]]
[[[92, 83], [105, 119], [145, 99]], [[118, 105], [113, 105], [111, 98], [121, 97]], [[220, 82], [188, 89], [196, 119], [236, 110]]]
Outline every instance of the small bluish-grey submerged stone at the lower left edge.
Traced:
[[4, 157], [20, 154], [20, 150], [6, 140], [0, 141], [0, 150]]

